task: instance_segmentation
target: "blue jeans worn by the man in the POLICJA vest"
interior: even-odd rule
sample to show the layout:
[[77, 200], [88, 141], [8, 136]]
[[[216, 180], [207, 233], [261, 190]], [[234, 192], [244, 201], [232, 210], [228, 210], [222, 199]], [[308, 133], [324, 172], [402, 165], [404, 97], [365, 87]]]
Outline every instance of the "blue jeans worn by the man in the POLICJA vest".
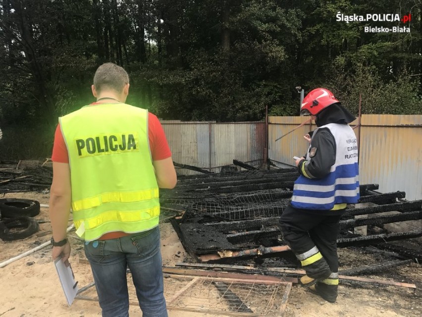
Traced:
[[128, 317], [126, 268], [132, 273], [144, 317], [167, 317], [163, 294], [159, 228], [85, 244], [103, 317]]

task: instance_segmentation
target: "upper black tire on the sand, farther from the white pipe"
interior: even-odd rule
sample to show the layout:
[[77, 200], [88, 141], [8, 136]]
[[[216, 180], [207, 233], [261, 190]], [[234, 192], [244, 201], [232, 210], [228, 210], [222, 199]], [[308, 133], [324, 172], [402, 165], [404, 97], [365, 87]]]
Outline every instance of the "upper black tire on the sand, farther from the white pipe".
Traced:
[[35, 217], [40, 214], [40, 203], [29, 199], [4, 198], [0, 199], [0, 210], [3, 218]]

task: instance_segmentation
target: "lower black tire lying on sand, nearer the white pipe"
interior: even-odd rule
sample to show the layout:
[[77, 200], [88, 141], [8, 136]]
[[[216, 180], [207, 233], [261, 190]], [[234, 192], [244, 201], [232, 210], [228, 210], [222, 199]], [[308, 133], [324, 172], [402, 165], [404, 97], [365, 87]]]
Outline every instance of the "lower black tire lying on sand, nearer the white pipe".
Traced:
[[[12, 228], [22, 228], [22, 230], [10, 231]], [[38, 232], [39, 229], [37, 220], [31, 217], [4, 218], [0, 221], [0, 239], [4, 241], [25, 239]]]

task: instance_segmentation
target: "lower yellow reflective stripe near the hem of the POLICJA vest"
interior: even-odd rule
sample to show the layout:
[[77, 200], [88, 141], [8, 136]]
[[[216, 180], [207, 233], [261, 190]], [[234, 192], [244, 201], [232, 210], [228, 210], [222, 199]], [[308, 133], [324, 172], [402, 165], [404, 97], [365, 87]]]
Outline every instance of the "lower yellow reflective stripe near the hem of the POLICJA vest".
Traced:
[[118, 221], [126, 223], [148, 220], [153, 217], [157, 217], [159, 215], [159, 211], [159, 206], [141, 211], [106, 211], [100, 213], [96, 217], [74, 220], [74, 222], [76, 228], [79, 228], [79, 226], [84, 223], [85, 230], [89, 230], [106, 222]]

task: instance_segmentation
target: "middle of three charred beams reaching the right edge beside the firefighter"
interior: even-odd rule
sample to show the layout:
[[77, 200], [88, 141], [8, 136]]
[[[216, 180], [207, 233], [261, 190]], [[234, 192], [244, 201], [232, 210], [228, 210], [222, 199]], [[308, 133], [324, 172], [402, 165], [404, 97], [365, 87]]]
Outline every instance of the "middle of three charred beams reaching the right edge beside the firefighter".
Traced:
[[340, 230], [347, 228], [374, 225], [379, 226], [384, 223], [392, 223], [397, 221], [418, 220], [422, 218], [422, 211], [408, 211], [403, 213], [379, 215], [369, 218], [356, 218], [340, 221]]

